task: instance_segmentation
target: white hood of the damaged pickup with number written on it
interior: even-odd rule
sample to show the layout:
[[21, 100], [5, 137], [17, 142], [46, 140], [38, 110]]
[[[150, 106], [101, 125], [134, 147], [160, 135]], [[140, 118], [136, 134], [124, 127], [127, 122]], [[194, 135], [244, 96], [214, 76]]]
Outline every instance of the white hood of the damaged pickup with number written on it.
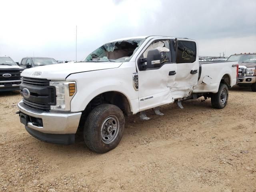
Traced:
[[70, 62], [29, 68], [22, 72], [22, 77], [65, 80], [72, 73], [118, 68], [122, 62]]

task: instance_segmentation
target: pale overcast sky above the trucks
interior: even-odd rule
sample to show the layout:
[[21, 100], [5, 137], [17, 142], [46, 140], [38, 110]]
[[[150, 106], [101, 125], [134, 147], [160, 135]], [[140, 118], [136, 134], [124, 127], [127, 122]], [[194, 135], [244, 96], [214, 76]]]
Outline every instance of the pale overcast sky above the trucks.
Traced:
[[0, 55], [77, 60], [124, 37], [198, 40], [199, 54], [256, 52], [256, 0], [3, 0]]

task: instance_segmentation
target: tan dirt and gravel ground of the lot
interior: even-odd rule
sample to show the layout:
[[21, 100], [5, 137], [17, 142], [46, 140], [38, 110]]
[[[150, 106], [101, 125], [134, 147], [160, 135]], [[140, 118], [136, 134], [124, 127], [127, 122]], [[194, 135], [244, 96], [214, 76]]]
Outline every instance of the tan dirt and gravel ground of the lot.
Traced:
[[223, 110], [191, 100], [126, 118], [119, 146], [96, 154], [33, 138], [15, 114], [21, 96], [0, 93], [0, 190], [255, 192], [255, 98], [236, 87]]

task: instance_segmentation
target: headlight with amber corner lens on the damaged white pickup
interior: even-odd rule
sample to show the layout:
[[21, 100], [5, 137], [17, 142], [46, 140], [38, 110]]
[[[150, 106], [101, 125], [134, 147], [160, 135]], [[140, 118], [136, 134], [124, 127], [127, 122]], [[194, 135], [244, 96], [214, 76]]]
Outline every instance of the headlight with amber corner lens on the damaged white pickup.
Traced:
[[76, 94], [74, 81], [50, 81], [50, 86], [56, 88], [56, 105], [51, 110], [70, 111], [70, 102]]

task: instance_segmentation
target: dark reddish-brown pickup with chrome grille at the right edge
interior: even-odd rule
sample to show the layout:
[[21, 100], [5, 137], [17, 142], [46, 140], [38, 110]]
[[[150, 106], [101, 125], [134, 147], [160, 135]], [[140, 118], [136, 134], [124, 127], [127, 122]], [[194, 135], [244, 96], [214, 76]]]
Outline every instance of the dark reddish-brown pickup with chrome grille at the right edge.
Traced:
[[238, 86], [251, 86], [256, 92], [256, 53], [233, 54], [228, 61], [238, 61]]

